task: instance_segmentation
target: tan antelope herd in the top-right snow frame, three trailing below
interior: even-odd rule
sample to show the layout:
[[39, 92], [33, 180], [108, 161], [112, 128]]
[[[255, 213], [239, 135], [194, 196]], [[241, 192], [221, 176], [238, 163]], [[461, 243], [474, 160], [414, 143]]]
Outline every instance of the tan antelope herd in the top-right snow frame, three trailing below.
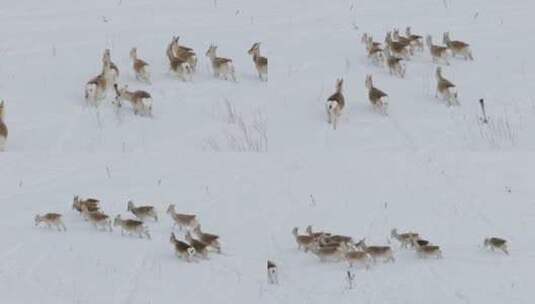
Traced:
[[[406, 36], [402, 36], [398, 29], [387, 32], [383, 46], [382, 43], [374, 41], [371, 35], [364, 33], [361, 42], [365, 45], [368, 58], [372, 63], [379, 66], [386, 65], [390, 75], [404, 78], [406, 66], [402, 61], [410, 60], [416, 52], [424, 51], [423, 36], [413, 34], [410, 27], [406, 28], [405, 34]], [[442, 42], [444, 45], [433, 44], [431, 35], [426, 36], [425, 42], [433, 63], [449, 65], [450, 54], [453, 57], [461, 56], [465, 60], [474, 60], [470, 45], [463, 41], [451, 40], [449, 32], [443, 34]], [[435, 78], [437, 81], [435, 97], [446, 101], [450, 106], [459, 105], [455, 85], [442, 75], [440, 66], [435, 70]], [[336, 129], [337, 119], [346, 105], [342, 86], [343, 79], [337, 79], [335, 93], [327, 98], [327, 120], [334, 129]], [[373, 108], [386, 115], [388, 94], [374, 86], [370, 74], [366, 76], [365, 87], [368, 90], [368, 99]]]

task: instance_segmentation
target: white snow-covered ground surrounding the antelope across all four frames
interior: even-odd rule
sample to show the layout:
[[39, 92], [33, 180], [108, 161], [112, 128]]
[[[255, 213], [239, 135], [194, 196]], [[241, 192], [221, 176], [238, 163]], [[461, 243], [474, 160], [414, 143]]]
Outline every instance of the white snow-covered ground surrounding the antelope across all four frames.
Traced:
[[[0, 154], [0, 294], [5, 303], [531, 303], [535, 282], [535, 61], [528, 0], [49, 0], [0, 1], [0, 98], [7, 152]], [[472, 45], [475, 61], [444, 74], [461, 106], [434, 98], [426, 50], [406, 79], [370, 64], [363, 32], [442, 32]], [[199, 55], [181, 82], [167, 70], [173, 35]], [[262, 41], [269, 82], [247, 50]], [[233, 59], [238, 83], [211, 76], [210, 43]], [[135, 80], [128, 51], [151, 64]], [[154, 99], [154, 118], [107, 101], [86, 106], [84, 84], [110, 48], [121, 84]], [[366, 74], [390, 96], [371, 110]], [[325, 100], [344, 77], [347, 107], [333, 131]], [[490, 124], [480, 123], [485, 98]], [[243, 140], [227, 106], [263, 153]], [[232, 139], [235, 139], [234, 141]], [[152, 240], [97, 232], [71, 210], [98, 197], [112, 216], [126, 202], [157, 207]], [[174, 203], [222, 238], [222, 255], [185, 263], [169, 244]], [[33, 226], [64, 214], [68, 231]], [[355, 269], [297, 251], [294, 226], [388, 244], [415, 230], [442, 247], [421, 260], [393, 241], [396, 263]], [[178, 234], [178, 231], [176, 231]], [[179, 234], [182, 237], [181, 234]], [[510, 256], [482, 248], [502, 236]], [[280, 285], [266, 283], [267, 259]]]

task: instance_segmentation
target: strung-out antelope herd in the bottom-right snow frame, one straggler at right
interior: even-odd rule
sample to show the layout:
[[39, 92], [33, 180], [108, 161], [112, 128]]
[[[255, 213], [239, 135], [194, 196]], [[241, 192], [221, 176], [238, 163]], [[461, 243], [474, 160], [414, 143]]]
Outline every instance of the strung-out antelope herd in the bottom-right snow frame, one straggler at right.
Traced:
[[[360, 265], [368, 269], [370, 263], [376, 264], [378, 260], [394, 262], [394, 253], [390, 246], [368, 246], [366, 239], [355, 242], [347, 235], [332, 234], [325, 231], [312, 231], [312, 226], [307, 226], [306, 234], [299, 234], [297, 227], [293, 228], [292, 234], [297, 243], [298, 250], [312, 252], [320, 261], [345, 260], [349, 267]], [[419, 258], [442, 258], [440, 246], [434, 245], [420, 237], [416, 232], [398, 233], [392, 229], [390, 236], [400, 243], [401, 248], [413, 248]], [[493, 251], [498, 249], [506, 254], [507, 241], [497, 237], [486, 238], [484, 245]]]

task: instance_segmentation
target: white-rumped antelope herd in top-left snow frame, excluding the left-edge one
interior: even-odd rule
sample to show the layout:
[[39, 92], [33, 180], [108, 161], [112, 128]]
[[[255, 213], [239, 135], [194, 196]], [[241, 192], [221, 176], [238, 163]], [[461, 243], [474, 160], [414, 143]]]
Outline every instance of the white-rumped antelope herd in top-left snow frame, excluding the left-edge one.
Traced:
[[[175, 36], [166, 49], [166, 55], [169, 59], [169, 69], [179, 79], [183, 81], [192, 80], [193, 74], [197, 71], [197, 54], [187, 46], [179, 43], [180, 37]], [[214, 77], [236, 82], [236, 72], [232, 59], [217, 56], [217, 46], [211, 44], [206, 51], [206, 57], [209, 58]], [[260, 42], [256, 42], [248, 50], [255, 64], [258, 78], [262, 81], [268, 80], [268, 60], [260, 54]], [[151, 73], [149, 64], [138, 57], [136, 47], [130, 50], [132, 67], [136, 79], [146, 84], [151, 84]], [[102, 72], [89, 80], [85, 86], [85, 99], [88, 103], [98, 106], [98, 103], [106, 97], [107, 91], [112, 88], [116, 97], [114, 104], [120, 107], [121, 101], [129, 101], [136, 115], [152, 115], [152, 97], [142, 90], [128, 91], [128, 86], [119, 88], [118, 86], [119, 68], [111, 61], [109, 49], [104, 50], [102, 56]]]

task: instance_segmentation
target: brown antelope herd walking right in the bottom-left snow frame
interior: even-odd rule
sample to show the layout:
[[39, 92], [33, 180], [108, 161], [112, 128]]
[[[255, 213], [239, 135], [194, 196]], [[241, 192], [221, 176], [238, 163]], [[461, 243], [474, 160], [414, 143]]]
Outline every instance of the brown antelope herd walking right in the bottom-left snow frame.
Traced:
[[[111, 217], [102, 211], [99, 199], [81, 199], [79, 196], [75, 196], [72, 208], [78, 211], [84, 220], [92, 224], [95, 229], [109, 232], [113, 230]], [[129, 236], [136, 235], [139, 238], [151, 239], [145, 222], [148, 220], [158, 221], [156, 208], [154, 206], [135, 206], [132, 201], [128, 201], [126, 210], [132, 213], [136, 219], [123, 219], [119, 214], [113, 220], [113, 226], [120, 227], [123, 236], [128, 234]], [[219, 236], [203, 232], [196, 215], [176, 213], [175, 205], [169, 205], [167, 214], [173, 220], [173, 229], [178, 226], [180, 231], [185, 231], [185, 241], [177, 239], [175, 233], [171, 232], [170, 242], [174, 245], [177, 257], [191, 262], [194, 257], [207, 259], [209, 250], [221, 253]], [[36, 215], [35, 226], [43, 223], [49, 229], [56, 228], [58, 231], [67, 231], [62, 217], [59, 213]]]

